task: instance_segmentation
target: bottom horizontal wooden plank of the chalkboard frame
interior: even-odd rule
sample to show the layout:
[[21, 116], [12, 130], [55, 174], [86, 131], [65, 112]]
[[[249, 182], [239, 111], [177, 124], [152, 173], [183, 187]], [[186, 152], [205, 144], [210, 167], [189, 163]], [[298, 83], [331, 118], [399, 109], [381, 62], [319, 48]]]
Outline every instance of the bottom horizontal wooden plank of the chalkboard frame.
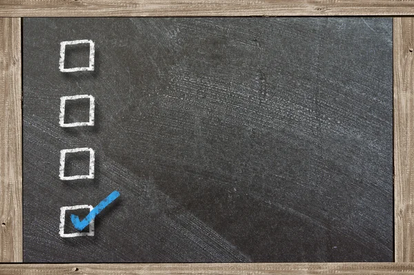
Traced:
[[413, 263], [6, 264], [0, 274], [414, 274]]

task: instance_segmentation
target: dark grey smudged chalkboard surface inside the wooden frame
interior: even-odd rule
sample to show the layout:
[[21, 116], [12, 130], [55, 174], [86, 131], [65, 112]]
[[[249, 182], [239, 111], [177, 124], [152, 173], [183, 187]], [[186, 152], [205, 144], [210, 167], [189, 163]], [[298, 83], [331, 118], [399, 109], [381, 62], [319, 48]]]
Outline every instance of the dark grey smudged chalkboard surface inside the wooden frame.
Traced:
[[391, 18], [23, 19], [24, 261], [393, 261], [392, 48]]

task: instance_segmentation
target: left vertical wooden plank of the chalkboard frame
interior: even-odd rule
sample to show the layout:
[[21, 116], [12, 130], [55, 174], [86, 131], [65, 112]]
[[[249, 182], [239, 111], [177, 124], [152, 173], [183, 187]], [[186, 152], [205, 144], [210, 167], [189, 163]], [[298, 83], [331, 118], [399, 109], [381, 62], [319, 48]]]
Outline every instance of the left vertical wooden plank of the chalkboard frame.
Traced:
[[20, 19], [0, 19], [0, 262], [23, 260]]

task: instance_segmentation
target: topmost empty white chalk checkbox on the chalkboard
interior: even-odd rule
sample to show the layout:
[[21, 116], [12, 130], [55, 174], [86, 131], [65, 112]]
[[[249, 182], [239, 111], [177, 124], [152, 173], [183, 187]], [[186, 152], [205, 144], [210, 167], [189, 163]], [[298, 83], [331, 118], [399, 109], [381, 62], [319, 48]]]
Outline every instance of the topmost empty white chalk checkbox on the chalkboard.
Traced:
[[[69, 62], [66, 60], [71, 56], [71, 54], [69, 53], [69, 48], [72, 48], [72, 51], [77, 52], [79, 51], [79, 49], [82, 48], [82, 46], [88, 46], [89, 48], [89, 54], [87, 55], [88, 65], [71, 68], [70, 65], [68, 66]], [[69, 68], [66, 68], [66, 66], [68, 66]], [[92, 40], [87, 39], [61, 42], [59, 70], [61, 72], [81, 72], [95, 70], [95, 43], [93, 43]]]

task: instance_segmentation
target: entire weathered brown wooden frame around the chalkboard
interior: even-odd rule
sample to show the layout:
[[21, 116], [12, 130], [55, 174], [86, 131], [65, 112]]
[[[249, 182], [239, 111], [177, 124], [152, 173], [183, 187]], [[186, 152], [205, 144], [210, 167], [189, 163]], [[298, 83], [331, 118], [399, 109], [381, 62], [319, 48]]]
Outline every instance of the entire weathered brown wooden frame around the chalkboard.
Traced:
[[[99, 16], [394, 18], [395, 263], [17, 264], [23, 261], [21, 18]], [[413, 0], [0, 1], [0, 274], [414, 274]]]

